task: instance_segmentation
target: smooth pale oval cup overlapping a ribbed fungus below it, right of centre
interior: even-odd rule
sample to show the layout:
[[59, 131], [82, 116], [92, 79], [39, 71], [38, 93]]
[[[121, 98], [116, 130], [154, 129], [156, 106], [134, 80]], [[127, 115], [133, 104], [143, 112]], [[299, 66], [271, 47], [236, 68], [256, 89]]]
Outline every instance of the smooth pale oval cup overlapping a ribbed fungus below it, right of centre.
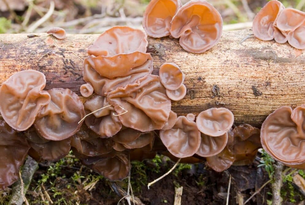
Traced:
[[232, 127], [233, 113], [227, 108], [210, 108], [199, 113], [196, 124], [200, 132], [217, 137], [224, 135]]

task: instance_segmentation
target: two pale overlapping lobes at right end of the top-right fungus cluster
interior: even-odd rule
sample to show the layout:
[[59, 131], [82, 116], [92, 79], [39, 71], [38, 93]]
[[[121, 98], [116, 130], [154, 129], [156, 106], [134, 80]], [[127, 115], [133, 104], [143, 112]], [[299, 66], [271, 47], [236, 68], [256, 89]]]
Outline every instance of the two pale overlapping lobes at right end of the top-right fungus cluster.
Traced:
[[288, 43], [296, 49], [305, 49], [305, 12], [296, 9], [284, 9], [276, 26], [287, 32]]

